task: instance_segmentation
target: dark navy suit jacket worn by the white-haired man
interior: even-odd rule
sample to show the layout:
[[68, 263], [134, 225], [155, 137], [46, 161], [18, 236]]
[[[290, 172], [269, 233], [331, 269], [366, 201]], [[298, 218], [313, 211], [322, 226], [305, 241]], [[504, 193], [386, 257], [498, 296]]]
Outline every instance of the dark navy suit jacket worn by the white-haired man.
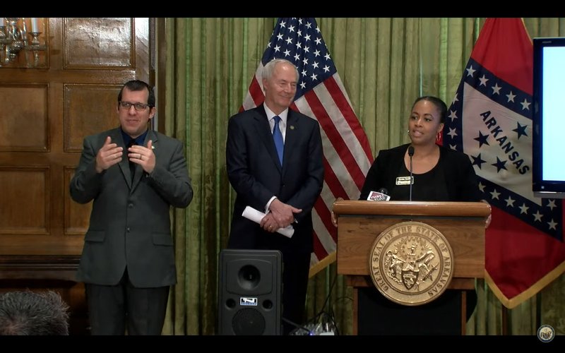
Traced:
[[[311, 210], [323, 186], [323, 152], [318, 121], [289, 109], [283, 167], [278, 161], [263, 104], [236, 114], [227, 126], [227, 177], [237, 192], [228, 247], [232, 249], [280, 249], [291, 246], [311, 252]], [[261, 212], [272, 196], [302, 208], [295, 215], [291, 239], [264, 232], [242, 217], [246, 206]]]

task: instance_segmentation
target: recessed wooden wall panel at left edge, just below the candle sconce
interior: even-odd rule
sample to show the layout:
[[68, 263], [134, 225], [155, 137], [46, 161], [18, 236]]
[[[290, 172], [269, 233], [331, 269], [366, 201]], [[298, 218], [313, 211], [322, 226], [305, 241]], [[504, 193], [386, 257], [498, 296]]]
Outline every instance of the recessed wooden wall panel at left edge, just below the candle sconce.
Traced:
[[0, 151], [49, 150], [47, 92], [47, 84], [0, 83]]

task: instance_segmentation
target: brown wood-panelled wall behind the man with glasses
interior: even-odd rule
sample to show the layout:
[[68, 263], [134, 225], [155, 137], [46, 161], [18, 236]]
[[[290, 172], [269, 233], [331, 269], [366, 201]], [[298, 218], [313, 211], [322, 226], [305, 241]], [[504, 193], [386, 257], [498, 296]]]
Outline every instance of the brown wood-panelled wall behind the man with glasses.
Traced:
[[[83, 138], [119, 126], [127, 80], [154, 85], [148, 18], [44, 18], [48, 50], [0, 67], [0, 292], [55, 289], [88, 333], [75, 279], [91, 203], [71, 200]], [[28, 53], [28, 56], [31, 53]]]

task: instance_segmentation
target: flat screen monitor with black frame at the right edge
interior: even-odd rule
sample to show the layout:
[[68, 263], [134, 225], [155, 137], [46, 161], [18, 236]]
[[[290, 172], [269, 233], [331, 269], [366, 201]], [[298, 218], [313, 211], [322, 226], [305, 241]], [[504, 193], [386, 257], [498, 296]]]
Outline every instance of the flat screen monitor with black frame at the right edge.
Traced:
[[565, 37], [533, 45], [533, 193], [565, 198]]

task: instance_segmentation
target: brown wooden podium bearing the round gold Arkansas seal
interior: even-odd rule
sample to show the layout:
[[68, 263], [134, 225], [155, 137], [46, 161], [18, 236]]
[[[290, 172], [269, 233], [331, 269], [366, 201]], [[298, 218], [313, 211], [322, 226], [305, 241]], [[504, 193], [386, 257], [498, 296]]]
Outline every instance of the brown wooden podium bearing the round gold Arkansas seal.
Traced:
[[[345, 275], [347, 285], [354, 291], [355, 335], [358, 330], [358, 289], [374, 287], [369, 272], [371, 246], [388, 227], [400, 222], [422, 222], [446, 237], [455, 259], [448, 289], [475, 289], [475, 278], [484, 277], [484, 222], [490, 215], [487, 203], [336, 201], [333, 213], [338, 218], [338, 274]], [[461, 333], [464, 335], [464, 302], [461, 307]]]

